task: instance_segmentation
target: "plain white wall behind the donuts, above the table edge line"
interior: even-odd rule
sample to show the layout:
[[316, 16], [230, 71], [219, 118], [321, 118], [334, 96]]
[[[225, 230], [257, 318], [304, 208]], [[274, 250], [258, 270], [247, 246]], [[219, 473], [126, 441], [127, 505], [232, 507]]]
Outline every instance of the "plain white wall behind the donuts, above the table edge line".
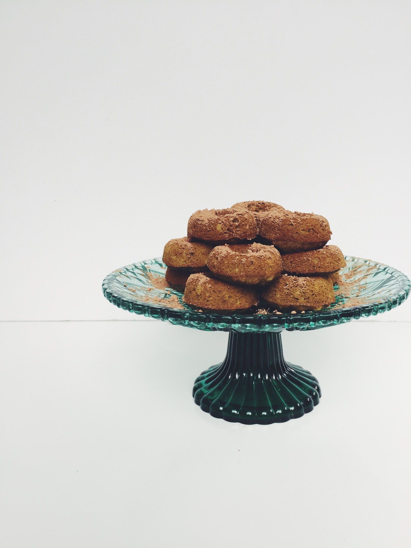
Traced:
[[2, 13], [0, 319], [132, 319], [102, 278], [244, 199], [325, 215], [346, 254], [411, 273], [409, 2]]

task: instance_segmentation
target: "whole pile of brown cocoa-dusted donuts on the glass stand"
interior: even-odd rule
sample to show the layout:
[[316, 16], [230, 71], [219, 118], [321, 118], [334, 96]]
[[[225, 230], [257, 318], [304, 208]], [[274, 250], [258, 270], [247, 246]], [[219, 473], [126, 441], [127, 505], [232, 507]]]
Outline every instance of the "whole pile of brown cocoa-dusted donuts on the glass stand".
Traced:
[[330, 237], [326, 218], [272, 202], [199, 210], [187, 236], [165, 244], [165, 279], [197, 309], [247, 310], [262, 301], [283, 312], [321, 310], [334, 302], [346, 265], [326, 245]]

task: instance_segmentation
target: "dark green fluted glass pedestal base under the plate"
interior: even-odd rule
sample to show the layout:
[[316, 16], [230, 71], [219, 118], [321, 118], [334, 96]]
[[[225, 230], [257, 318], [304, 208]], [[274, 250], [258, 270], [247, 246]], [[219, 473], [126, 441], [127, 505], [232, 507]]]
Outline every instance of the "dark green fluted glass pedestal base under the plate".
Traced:
[[199, 375], [194, 401], [232, 423], [284, 423], [312, 411], [321, 389], [306, 369], [285, 361], [281, 333], [230, 331], [224, 362]]

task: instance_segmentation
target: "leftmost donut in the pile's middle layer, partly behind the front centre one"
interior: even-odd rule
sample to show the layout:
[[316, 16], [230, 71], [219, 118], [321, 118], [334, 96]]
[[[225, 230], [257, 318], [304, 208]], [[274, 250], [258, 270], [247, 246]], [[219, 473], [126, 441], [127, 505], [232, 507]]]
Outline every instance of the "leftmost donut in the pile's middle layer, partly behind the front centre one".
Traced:
[[189, 239], [173, 238], [164, 246], [163, 262], [175, 269], [187, 269], [191, 272], [204, 270], [212, 246], [199, 242], [190, 242]]

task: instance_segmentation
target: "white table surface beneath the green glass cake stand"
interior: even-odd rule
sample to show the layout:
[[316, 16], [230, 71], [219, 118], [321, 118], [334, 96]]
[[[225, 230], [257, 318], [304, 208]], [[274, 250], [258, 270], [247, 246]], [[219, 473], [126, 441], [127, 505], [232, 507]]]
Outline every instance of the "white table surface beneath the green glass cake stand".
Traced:
[[1, 323], [5, 548], [408, 547], [410, 323], [283, 334], [323, 397], [244, 426], [193, 403], [227, 334]]

